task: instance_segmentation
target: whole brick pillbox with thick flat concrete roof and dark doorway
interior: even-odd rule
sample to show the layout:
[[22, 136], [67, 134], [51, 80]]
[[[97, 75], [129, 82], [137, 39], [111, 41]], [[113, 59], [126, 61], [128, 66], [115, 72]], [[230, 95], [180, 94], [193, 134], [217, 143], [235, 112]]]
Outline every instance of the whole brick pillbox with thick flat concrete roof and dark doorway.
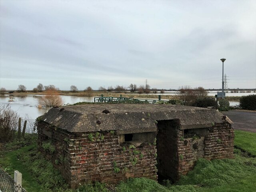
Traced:
[[[112, 110], [107, 114], [102, 112], [106, 106]], [[234, 157], [234, 130], [216, 110], [85, 105], [52, 108], [42, 119], [39, 150], [73, 188], [88, 181], [115, 184], [129, 177], [176, 181], [198, 158]]]

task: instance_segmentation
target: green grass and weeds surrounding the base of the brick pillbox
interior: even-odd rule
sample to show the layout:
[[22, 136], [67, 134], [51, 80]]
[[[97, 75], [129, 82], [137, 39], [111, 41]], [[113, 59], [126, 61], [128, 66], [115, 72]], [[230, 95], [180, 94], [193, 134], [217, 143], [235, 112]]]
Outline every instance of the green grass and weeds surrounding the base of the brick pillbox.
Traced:
[[[234, 149], [234, 159], [199, 159], [195, 168], [186, 176], [182, 176], [176, 184], [170, 184], [167, 180], [164, 186], [146, 178], [130, 178], [120, 182], [115, 188], [96, 182], [72, 190], [65, 184], [58, 170], [37, 152], [36, 144], [6, 152], [0, 157], [0, 166], [10, 174], [13, 174], [14, 170], [22, 172], [23, 186], [28, 192], [254, 192], [256, 158], [246, 156], [244, 151], [254, 154], [255, 135], [235, 131], [235, 145], [243, 151]], [[15, 145], [17, 144], [20, 143], [16, 142]], [[9, 148], [13, 146], [8, 144]]]

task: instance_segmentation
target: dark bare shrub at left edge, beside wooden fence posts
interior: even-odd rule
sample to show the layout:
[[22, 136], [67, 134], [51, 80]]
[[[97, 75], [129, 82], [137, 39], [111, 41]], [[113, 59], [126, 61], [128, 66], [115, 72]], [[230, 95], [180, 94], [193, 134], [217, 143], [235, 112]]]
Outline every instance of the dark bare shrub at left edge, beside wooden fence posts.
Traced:
[[18, 124], [18, 114], [9, 105], [0, 105], [0, 142], [12, 140]]

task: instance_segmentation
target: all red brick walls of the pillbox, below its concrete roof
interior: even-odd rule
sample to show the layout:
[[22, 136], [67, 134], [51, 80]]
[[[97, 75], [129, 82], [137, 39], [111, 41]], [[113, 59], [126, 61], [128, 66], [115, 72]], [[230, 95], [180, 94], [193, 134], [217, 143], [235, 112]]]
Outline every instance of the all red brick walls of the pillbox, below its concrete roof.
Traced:
[[[204, 132], [204, 136], [196, 139], [184, 138], [184, 130], [180, 130], [175, 121], [163, 121], [163, 124], [164, 129], [162, 136], [158, 135], [157, 145], [160, 143], [160, 146], [166, 146], [158, 148], [157, 155], [168, 164], [168, 176], [172, 180], [192, 170], [198, 158], [211, 160], [234, 157], [234, 131], [230, 124], [198, 129]], [[55, 147], [53, 154], [41, 147], [46, 140], [50, 140]], [[98, 132], [97, 136], [96, 132], [74, 134], [44, 122], [38, 124], [39, 150], [53, 162], [72, 187], [87, 181], [117, 183], [129, 177], [156, 180], [156, 146], [151, 143], [132, 146], [119, 142], [114, 132]], [[164, 169], [160, 172], [166, 174]]]

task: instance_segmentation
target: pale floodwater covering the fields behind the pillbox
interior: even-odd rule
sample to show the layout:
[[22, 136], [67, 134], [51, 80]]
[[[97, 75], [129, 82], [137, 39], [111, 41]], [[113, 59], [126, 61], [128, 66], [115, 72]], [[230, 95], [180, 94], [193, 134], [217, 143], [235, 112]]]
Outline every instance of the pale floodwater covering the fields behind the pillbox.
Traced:
[[[175, 95], [177, 92], [168, 91], [161, 95]], [[156, 93], [155, 95], [159, 95]], [[209, 96], [214, 96], [217, 94], [216, 91], [208, 92]], [[226, 93], [226, 96], [246, 96], [250, 94], [256, 94], [254, 92], [250, 93]], [[0, 96], [0, 104], [9, 104], [12, 110], [18, 112], [19, 116], [26, 119], [36, 119], [38, 116], [44, 114], [47, 108], [38, 108], [38, 99], [43, 95], [4, 95]], [[9, 101], [12, 98], [13, 101]], [[78, 96], [61, 96], [64, 100], [64, 104], [74, 104], [77, 102], [94, 102], [94, 97], [78, 97]], [[136, 94], [134, 94], [136, 98]], [[150, 98], [148, 98], [150, 99]], [[152, 99], [152, 98], [151, 98]], [[239, 102], [231, 101], [230, 106], [236, 106]]]

